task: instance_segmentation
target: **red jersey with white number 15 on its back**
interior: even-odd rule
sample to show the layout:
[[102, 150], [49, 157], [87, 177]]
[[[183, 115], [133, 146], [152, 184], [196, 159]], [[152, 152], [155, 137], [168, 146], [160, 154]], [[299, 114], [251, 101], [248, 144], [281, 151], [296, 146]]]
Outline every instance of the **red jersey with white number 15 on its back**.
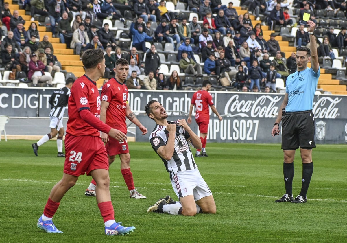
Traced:
[[195, 120], [197, 122], [210, 120], [210, 107], [213, 106], [212, 96], [206, 90], [193, 94], [192, 104], [195, 104]]

